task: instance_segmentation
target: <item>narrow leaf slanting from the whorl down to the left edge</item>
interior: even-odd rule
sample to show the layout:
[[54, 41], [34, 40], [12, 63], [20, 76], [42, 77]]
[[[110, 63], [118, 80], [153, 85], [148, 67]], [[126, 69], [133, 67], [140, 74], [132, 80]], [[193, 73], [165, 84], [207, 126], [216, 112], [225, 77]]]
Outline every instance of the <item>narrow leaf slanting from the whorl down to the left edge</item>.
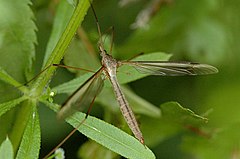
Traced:
[[4, 113], [6, 113], [7, 111], [9, 111], [10, 109], [12, 109], [13, 107], [15, 107], [16, 105], [18, 105], [19, 103], [21, 103], [22, 101], [24, 101], [26, 99], [25, 96], [22, 96], [18, 99], [14, 99], [11, 100], [9, 102], [6, 103], [1, 103], [0, 104], [0, 116], [2, 116]]

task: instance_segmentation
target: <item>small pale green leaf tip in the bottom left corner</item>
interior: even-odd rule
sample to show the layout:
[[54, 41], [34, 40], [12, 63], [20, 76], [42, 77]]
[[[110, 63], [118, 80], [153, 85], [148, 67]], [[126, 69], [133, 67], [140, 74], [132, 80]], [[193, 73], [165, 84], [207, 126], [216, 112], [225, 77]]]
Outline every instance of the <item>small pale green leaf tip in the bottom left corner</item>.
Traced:
[[13, 146], [9, 138], [7, 137], [0, 146], [0, 158], [13, 159]]

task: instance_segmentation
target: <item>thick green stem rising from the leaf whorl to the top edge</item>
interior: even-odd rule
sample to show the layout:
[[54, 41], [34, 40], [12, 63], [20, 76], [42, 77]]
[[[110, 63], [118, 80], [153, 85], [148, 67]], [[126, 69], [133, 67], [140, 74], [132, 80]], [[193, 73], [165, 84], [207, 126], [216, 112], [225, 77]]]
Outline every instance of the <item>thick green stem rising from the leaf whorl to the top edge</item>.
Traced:
[[[65, 54], [67, 47], [69, 46], [73, 36], [76, 33], [78, 26], [82, 23], [89, 6], [90, 6], [90, 3], [88, 0], [79, 1], [66, 29], [64, 30], [53, 52], [49, 56], [49, 59], [46, 62], [45, 68], [48, 66], [51, 66], [52, 64], [60, 63], [61, 59]], [[49, 69], [47, 69], [44, 73], [42, 73], [39, 76], [39, 78], [34, 82], [32, 86], [30, 96], [35, 97], [35, 96], [41, 95], [46, 85], [51, 80], [55, 70], [56, 70], [56, 67], [49, 67]]]

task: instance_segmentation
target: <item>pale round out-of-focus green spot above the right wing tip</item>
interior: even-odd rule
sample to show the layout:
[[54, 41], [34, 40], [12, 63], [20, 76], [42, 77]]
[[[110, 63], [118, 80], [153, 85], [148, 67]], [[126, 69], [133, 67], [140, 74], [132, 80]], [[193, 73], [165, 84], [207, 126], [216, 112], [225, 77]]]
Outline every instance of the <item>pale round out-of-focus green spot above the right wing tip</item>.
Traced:
[[189, 52], [190, 59], [220, 63], [225, 58], [226, 33], [224, 28], [212, 19], [205, 19], [188, 29], [185, 43], [186, 50], [182, 52]]

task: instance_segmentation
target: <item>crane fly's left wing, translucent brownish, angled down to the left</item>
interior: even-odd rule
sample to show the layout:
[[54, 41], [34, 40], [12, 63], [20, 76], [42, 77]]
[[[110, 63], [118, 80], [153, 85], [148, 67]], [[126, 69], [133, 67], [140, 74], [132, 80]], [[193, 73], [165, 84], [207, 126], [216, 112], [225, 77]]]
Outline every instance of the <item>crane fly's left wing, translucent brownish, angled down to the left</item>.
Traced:
[[80, 111], [81, 107], [90, 106], [91, 102], [100, 93], [103, 87], [103, 79], [101, 77], [103, 67], [85, 81], [63, 104], [57, 114], [60, 119], [72, 115]]

